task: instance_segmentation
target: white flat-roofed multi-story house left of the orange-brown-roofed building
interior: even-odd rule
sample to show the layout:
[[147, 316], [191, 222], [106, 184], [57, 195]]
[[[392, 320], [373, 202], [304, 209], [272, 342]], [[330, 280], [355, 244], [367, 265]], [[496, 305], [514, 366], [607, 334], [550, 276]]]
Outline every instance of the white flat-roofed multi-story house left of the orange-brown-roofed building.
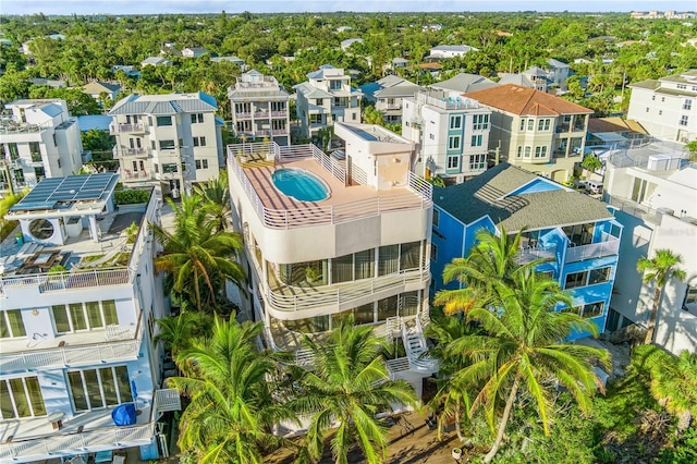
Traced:
[[415, 172], [460, 183], [487, 170], [491, 110], [440, 90], [404, 98], [402, 135], [418, 145]]

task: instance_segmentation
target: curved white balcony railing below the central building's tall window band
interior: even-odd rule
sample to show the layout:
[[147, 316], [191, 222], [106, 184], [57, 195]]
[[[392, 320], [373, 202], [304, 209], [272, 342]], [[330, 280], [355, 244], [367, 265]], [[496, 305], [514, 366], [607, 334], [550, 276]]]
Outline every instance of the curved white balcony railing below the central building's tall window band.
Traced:
[[267, 298], [274, 309], [283, 312], [296, 312], [321, 306], [333, 306], [351, 303], [376, 293], [400, 289], [408, 283], [424, 283], [430, 279], [430, 269], [411, 270], [402, 273], [366, 279], [341, 286], [328, 289], [309, 289], [308, 293], [286, 295], [267, 290]]

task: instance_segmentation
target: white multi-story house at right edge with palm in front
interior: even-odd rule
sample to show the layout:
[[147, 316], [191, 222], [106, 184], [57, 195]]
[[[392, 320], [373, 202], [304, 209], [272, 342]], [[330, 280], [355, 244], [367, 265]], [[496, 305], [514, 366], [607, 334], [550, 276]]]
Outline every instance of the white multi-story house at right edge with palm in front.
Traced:
[[686, 157], [667, 142], [615, 150], [604, 176], [604, 198], [624, 224], [608, 330], [647, 327], [656, 288], [641, 281], [636, 262], [668, 248], [682, 256], [686, 279], [667, 283], [653, 340], [674, 354], [697, 347], [697, 169]]

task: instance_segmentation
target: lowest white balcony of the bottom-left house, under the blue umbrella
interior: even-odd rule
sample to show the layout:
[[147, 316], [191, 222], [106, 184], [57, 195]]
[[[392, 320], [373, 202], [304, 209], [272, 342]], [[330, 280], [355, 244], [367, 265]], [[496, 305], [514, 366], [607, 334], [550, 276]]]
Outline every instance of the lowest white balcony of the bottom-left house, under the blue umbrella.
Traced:
[[132, 426], [114, 426], [111, 412], [115, 406], [78, 413], [65, 419], [60, 430], [46, 416], [13, 420], [12, 429], [2, 432], [0, 462], [44, 461], [149, 444], [162, 413], [181, 410], [176, 390], [155, 390], [152, 398], [151, 405], [145, 400], [145, 406], [144, 400], [136, 400], [143, 413]]

